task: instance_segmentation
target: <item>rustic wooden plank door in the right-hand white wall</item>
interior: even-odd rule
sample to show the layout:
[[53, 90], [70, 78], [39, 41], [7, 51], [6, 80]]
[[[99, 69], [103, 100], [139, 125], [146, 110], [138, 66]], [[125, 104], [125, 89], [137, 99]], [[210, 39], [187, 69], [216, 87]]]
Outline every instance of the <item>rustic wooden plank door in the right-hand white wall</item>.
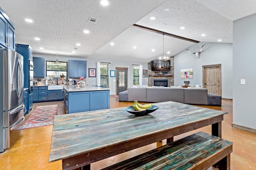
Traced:
[[203, 67], [203, 86], [209, 93], [221, 96], [221, 64]]

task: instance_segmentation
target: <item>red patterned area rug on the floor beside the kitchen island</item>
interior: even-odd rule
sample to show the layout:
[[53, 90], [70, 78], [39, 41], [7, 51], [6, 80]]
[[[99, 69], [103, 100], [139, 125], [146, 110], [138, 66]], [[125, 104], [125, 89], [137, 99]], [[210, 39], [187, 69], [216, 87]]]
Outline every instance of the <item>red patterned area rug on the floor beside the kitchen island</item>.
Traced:
[[16, 129], [52, 125], [55, 115], [58, 115], [58, 105], [37, 106], [28, 120]]

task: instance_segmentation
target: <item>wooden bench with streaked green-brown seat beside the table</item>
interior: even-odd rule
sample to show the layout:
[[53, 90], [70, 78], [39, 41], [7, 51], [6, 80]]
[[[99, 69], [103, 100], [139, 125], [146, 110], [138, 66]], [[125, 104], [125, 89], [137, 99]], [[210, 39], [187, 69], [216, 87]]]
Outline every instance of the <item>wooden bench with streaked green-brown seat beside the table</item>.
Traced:
[[231, 152], [232, 142], [198, 132], [103, 170], [206, 170], [217, 162], [219, 170], [230, 170]]

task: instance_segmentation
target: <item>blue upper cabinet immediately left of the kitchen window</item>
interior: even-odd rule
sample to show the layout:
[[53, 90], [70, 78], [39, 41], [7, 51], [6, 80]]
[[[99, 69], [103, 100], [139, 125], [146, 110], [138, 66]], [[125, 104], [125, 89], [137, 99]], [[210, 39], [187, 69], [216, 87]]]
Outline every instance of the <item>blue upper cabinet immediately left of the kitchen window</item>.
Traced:
[[45, 77], [45, 59], [42, 57], [33, 57], [34, 77]]

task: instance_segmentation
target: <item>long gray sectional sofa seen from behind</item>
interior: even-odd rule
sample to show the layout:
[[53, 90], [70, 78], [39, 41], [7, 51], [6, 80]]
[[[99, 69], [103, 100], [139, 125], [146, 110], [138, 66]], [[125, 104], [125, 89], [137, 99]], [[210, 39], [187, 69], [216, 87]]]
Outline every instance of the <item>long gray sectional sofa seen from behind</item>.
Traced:
[[208, 93], [205, 88], [128, 88], [118, 94], [119, 101], [166, 102], [221, 106], [221, 96]]

